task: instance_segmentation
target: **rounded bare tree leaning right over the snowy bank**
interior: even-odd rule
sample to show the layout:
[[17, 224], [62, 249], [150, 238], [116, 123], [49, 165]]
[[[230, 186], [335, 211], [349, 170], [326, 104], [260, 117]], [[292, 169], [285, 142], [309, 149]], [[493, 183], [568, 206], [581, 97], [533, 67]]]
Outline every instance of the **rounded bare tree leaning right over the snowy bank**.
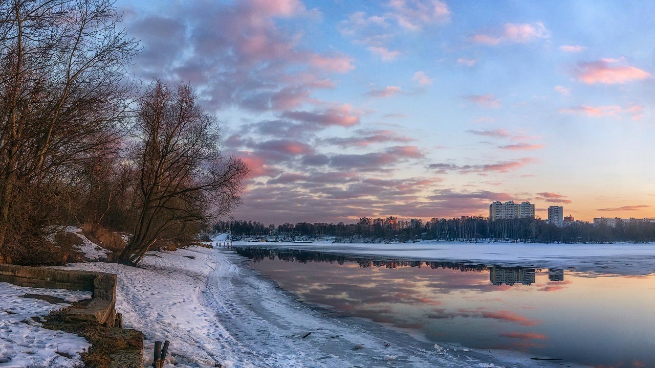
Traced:
[[156, 243], [195, 234], [240, 203], [247, 166], [224, 157], [217, 119], [191, 86], [157, 83], [139, 101], [132, 162], [138, 166], [136, 216], [119, 261], [136, 265]]

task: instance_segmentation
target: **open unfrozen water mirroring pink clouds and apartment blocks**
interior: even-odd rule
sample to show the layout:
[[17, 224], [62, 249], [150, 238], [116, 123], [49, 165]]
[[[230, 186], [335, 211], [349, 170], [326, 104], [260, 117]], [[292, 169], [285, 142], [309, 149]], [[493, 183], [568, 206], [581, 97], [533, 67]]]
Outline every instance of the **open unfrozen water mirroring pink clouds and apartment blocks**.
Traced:
[[652, 276], [236, 250], [307, 303], [409, 329], [420, 339], [597, 367], [655, 367]]

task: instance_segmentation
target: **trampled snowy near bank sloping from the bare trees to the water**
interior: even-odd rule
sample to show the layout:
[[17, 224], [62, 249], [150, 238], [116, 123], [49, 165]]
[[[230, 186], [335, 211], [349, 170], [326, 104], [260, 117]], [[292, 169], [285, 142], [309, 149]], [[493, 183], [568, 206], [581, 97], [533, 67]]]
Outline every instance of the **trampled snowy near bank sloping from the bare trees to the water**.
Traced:
[[[513, 352], [494, 357], [434, 346], [367, 320], [337, 318], [293, 300], [231, 252], [151, 253], [141, 266], [70, 268], [119, 274], [117, 309], [125, 326], [143, 331], [147, 348], [154, 340], [170, 340], [174, 359], [168, 367], [555, 366]], [[151, 355], [145, 350], [144, 358]]]

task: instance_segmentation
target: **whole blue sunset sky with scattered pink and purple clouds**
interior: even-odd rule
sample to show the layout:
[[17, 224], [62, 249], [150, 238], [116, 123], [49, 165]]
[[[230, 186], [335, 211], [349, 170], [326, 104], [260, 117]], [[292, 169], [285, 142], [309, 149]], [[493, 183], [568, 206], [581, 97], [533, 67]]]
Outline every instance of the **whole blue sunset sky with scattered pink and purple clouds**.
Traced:
[[655, 217], [652, 1], [119, 0], [250, 166], [234, 219]]

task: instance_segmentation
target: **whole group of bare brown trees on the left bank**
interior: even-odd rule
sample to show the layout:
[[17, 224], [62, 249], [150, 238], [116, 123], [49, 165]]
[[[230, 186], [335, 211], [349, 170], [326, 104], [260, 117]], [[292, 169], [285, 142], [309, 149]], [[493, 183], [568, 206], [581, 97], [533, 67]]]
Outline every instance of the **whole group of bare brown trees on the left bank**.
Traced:
[[0, 2], [0, 263], [43, 264], [61, 225], [129, 234], [115, 260], [184, 244], [240, 202], [188, 84], [142, 86], [111, 0]]

